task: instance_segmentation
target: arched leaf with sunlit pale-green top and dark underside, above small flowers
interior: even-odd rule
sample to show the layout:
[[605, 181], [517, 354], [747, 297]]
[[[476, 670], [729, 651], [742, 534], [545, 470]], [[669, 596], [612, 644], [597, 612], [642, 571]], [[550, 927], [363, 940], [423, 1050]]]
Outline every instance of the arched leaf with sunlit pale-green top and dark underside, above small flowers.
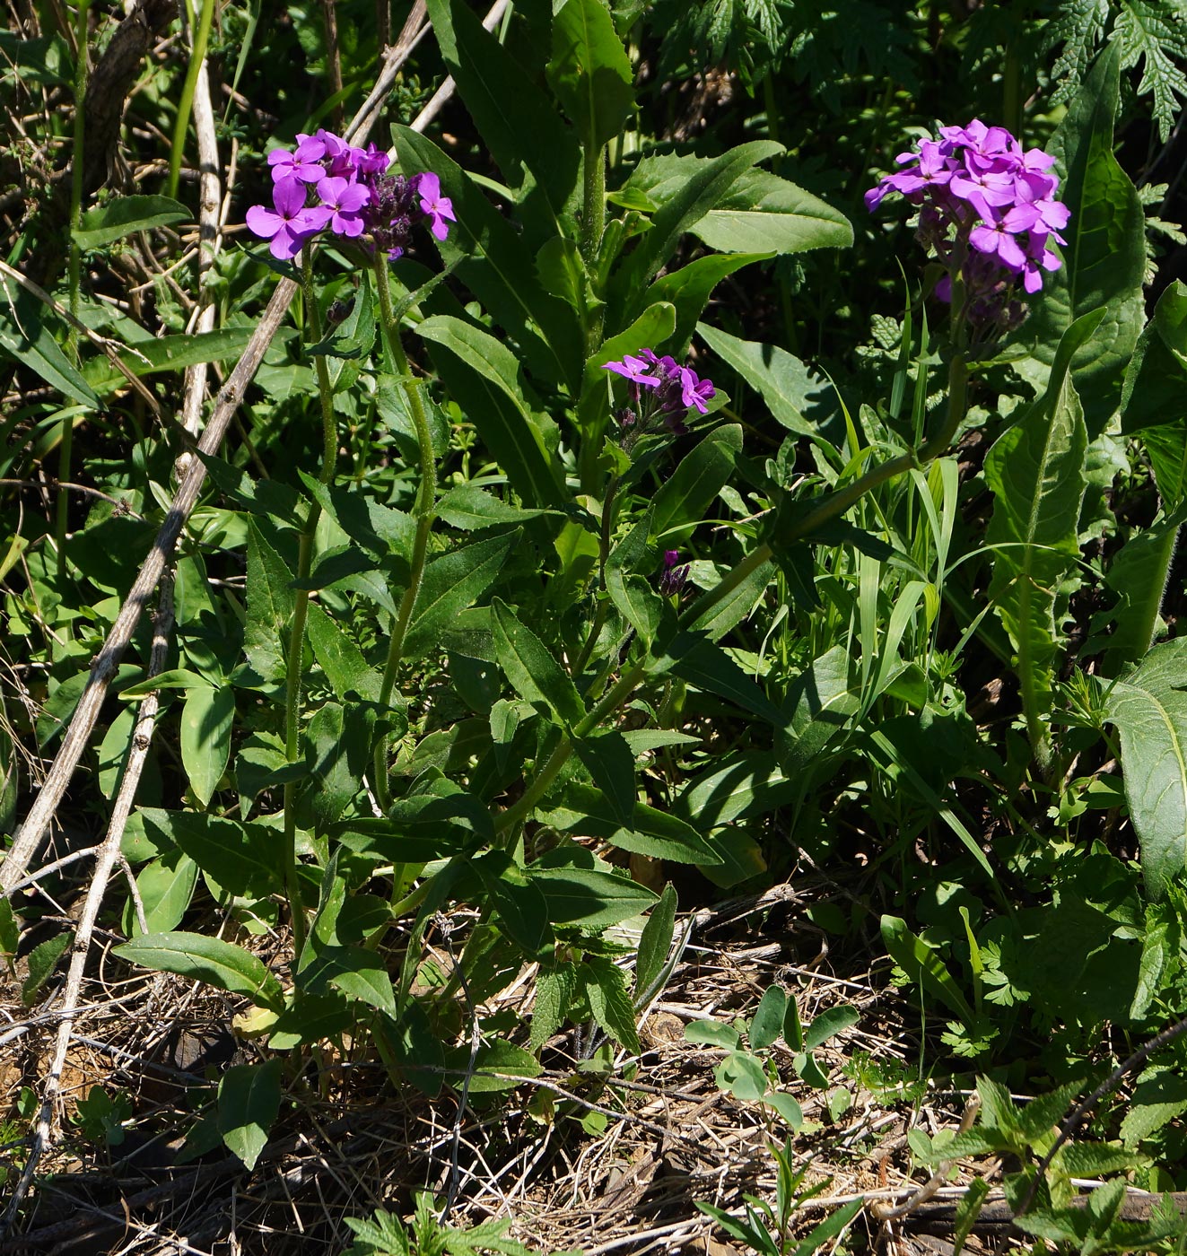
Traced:
[[558, 462], [528, 411], [511, 350], [443, 314], [425, 319], [417, 332], [430, 342], [441, 378], [512, 487], [534, 506], [560, 509], [565, 499]]

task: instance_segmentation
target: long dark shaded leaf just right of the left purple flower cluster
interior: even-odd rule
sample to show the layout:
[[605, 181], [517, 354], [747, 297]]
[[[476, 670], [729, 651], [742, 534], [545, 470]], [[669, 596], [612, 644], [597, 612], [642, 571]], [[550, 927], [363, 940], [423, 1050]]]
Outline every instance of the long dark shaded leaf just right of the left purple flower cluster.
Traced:
[[453, 202], [457, 224], [437, 245], [442, 259], [519, 343], [533, 376], [577, 387], [585, 355], [582, 324], [572, 305], [545, 291], [531, 246], [432, 141], [407, 127], [393, 127], [392, 134], [403, 173], [432, 171]]

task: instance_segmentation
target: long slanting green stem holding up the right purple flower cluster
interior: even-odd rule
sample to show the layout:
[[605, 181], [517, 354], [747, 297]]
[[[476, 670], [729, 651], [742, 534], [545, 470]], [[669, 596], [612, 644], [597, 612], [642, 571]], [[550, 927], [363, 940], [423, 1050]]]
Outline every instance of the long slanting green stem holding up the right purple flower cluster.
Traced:
[[[956, 430], [965, 417], [968, 403], [968, 364], [963, 354], [957, 353], [952, 358], [948, 368], [948, 411], [943, 427], [919, 450], [903, 453], [882, 466], [867, 471], [865, 475], [854, 480], [853, 484], [830, 494], [814, 510], [795, 520], [785, 534], [780, 536], [780, 545], [791, 545], [805, 536], [811, 535], [829, 520], [844, 514], [854, 502], [859, 501], [867, 492], [875, 489], [896, 476], [904, 475], [912, 467], [921, 466], [938, 457], [951, 443]], [[700, 598], [680, 617], [681, 627], [687, 628], [702, 618], [718, 602], [734, 592], [744, 580], [754, 574], [764, 563], [770, 561], [774, 550], [769, 541], [762, 541], [751, 550], [737, 566], [732, 568], [720, 584], [715, 585]], [[617, 683], [607, 691], [602, 701], [579, 723], [573, 727], [573, 736], [561, 737], [556, 749], [549, 755], [544, 766], [538, 772], [520, 799], [507, 808], [495, 820], [495, 833], [505, 838], [509, 833], [531, 814], [536, 803], [548, 791], [548, 788], [556, 779], [558, 772], [564, 767], [573, 752], [573, 737], [584, 737], [597, 728], [602, 721], [626, 702], [646, 676], [646, 666], [636, 663], [626, 671]]]

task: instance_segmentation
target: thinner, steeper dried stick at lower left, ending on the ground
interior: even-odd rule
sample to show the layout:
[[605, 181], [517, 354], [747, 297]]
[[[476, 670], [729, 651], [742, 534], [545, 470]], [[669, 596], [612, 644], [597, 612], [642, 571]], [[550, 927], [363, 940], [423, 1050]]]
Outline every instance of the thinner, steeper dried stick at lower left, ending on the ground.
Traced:
[[[153, 620], [152, 651], [148, 657], [149, 676], [157, 676], [165, 669], [172, 627], [173, 579], [171, 573], [166, 573], [161, 580], [161, 600]], [[123, 770], [123, 777], [119, 781], [119, 793], [116, 795], [116, 803], [112, 806], [112, 821], [108, 825], [107, 836], [99, 848], [94, 875], [90, 880], [90, 888], [87, 891], [82, 914], [78, 918], [78, 928], [74, 933], [74, 945], [70, 950], [70, 970], [67, 975], [65, 993], [63, 996], [64, 1009], [58, 1025], [54, 1058], [45, 1076], [45, 1090], [41, 1094], [41, 1109], [38, 1113], [33, 1147], [29, 1149], [29, 1158], [25, 1161], [25, 1167], [13, 1192], [13, 1198], [9, 1199], [4, 1217], [0, 1218], [0, 1236], [8, 1232], [9, 1226], [11, 1226], [13, 1220], [16, 1217], [21, 1201], [33, 1183], [41, 1153], [49, 1145], [54, 1105], [62, 1085], [62, 1070], [65, 1065], [67, 1051], [70, 1048], [70, 1031], [74, 1027], [74, 1017], [78, 1014], [78, 1000], [83, 986], [83, 972], [87, 967], [87, 953], [90, 950], [90, 939], [94, 934], [94, 922], [98, 918], [99, 908], [103, 906], [107, 883], [121, 859], [119, 844], [123, 840], [128, 816], [132, 814], [136, 788], [139, 785], [141, 774], [148, 759], [148, 747], [152, 745], [152, 732], [156, 726], [160, 701], [160, 692], [156, 690], [146, 695], [141, 701], [139, 717], [136, 721], [136, 730], [132, 734], [132, 750]]]

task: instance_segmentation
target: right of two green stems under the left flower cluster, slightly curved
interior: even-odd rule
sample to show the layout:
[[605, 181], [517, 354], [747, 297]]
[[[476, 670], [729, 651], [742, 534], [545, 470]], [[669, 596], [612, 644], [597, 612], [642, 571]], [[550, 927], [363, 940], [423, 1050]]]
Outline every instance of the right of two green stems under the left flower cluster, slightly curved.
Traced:
[[[388, 643], [387, 664], [383, 668], [383, 683], [379, 688], [379, 706], [387, 707], [392, 700], [392, 691], [396, 688], [396, 673], [399, 668], [399, 659], [403, 654], [404, 637], [408, 632], [408, 623], [412, 619], [412, 608], [416, 605], [417, 594], [421, 592], [421, 580], [425, 575], [425, 560], [428, 555], [428, 535], [432, 531], [436, 517], [435, 505], [437, 496], [437, 465], [433, 460], [433, 438], [428, 427], [428, 416], [425, 413], [425, 403], [421, 401], [420, 383], [412, 378], [408, 368], [408, 358], [399, 339], [399, 327], [392, 310], [392, 289], [388, 281], [387, 259], [378, 254], [374, 261], [376, 286], [379, 290], [379, 311], [383, 318], [383, 334], [387, 347], [396, 364], [404, 396], [408, 398], [408, 411], [412, 416], [412, 426], [416, 430], [416, 443], [421, 460], [421, 482], [416, 495], [416, 536], [412, 543], [412, 564], [408, 574], [408, 588], [399, 602], [396, 622], [392, 624], [392, 639]], [[374, 761], [374, 788], [379, 806], [387, 810], [387, 735], [379, 737], [376, 746]]]

